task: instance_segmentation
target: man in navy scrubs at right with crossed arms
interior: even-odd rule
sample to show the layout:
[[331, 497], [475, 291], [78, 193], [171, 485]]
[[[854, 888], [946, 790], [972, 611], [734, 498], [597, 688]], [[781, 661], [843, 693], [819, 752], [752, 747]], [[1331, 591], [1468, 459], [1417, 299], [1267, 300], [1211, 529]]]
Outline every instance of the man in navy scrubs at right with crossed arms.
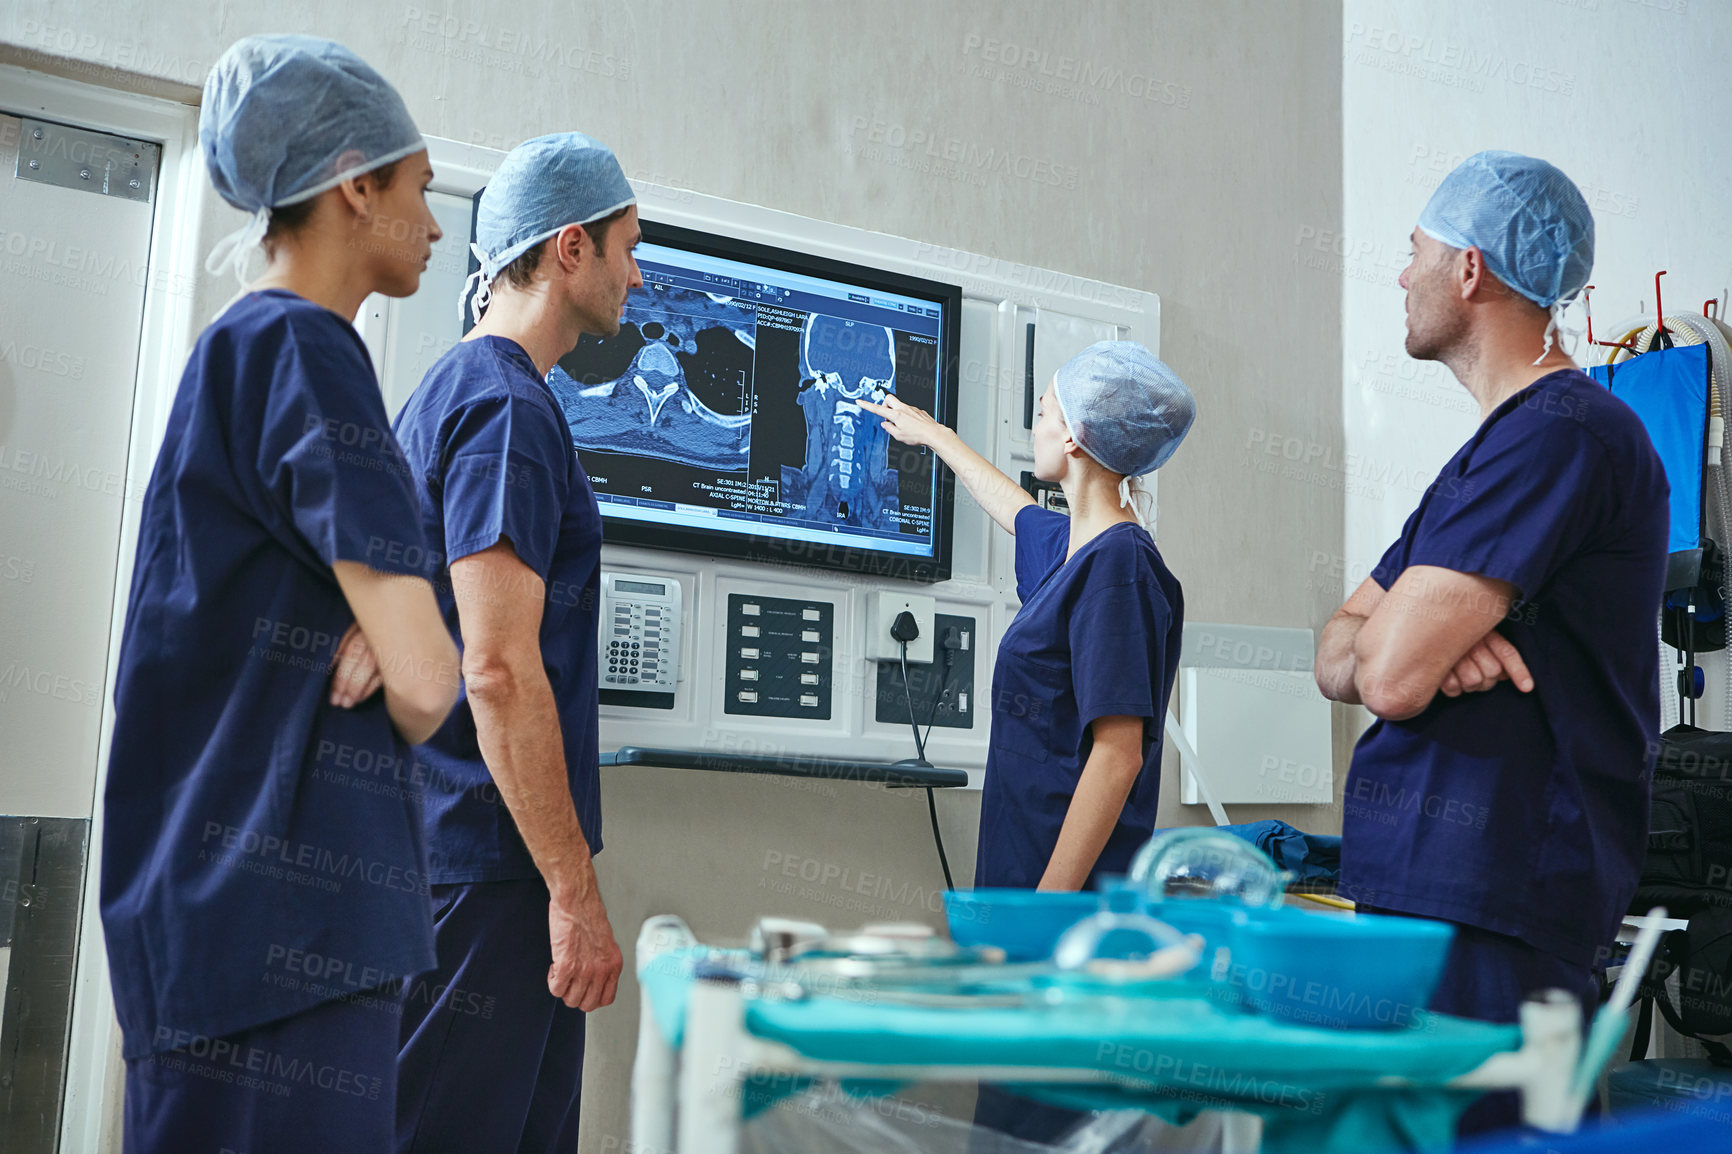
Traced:
[[[1514, 1022], [1595, 998], [1647, 840], [1666, 477], [1555, 317], [1593, 218], [1552, 165], [1479, 152], [1420, 213], [1406, 352], [1479, 402], [1469, 437], [1318, 643], [1316, 681], [1377, 723], [1346, 785], [1341, 889], [1455, 924], [1432, 1008]], [[1462, 1123], [1512, 1125], [1516, 1095]]]

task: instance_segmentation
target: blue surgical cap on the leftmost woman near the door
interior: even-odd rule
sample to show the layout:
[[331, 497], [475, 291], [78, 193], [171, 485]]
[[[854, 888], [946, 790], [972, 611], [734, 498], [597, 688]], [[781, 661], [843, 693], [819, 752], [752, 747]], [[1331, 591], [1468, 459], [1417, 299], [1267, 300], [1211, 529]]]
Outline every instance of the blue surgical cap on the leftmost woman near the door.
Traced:
[[206, 267], [239, 265], [270, 210], [426, 147], [404, 99], [359, 55], [319, 36], [248, 36], [204, 81], [199, 147], [216, 194], [253, 220]]

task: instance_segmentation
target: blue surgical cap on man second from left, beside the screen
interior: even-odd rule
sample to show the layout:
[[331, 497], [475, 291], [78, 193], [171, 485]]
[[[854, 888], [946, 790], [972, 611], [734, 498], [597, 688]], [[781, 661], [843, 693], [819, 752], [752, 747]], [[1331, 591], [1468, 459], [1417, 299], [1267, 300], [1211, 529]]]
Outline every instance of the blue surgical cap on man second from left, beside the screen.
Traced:
[[[487, 286], [513, 260], [566, 225], [592, 224], [636, 203], [620, 161], [582, 132], [556, 132], [511, 149], [475, 210], [471, 248], [481, 262], [471, 277], [481, 281], [473, 300], [476, 319], [487, 307]], [[468, 296], [469, 286], [462, 291]]]

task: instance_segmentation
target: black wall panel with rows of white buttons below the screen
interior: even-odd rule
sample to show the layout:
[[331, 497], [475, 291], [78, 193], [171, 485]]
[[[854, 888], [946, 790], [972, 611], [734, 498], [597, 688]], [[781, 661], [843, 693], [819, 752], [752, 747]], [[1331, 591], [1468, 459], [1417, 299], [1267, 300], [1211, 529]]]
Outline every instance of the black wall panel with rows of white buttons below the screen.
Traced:
[[830, 721], [837, 606], [727, 596], [722, 712]]

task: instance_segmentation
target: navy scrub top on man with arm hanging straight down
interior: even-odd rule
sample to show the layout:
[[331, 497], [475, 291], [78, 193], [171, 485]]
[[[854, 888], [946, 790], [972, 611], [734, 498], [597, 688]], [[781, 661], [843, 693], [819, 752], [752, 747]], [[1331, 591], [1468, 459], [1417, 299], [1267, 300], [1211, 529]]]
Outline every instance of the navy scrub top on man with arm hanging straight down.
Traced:
[[[435, 362], [397, 414], [397, 437], [419, 477], [440, 610], [462, 645], [449, 567], [507, 541], [546, 582], [542, 665], [553, 686], [577, 820], [601, 851], [596, 620], [601, 511], [572, 430], [535, 362], [516, 341], [478, 336]], [[475, 731], [468, 693], [416, 749], [424, 780], [435, 884], [539, 877]]]

